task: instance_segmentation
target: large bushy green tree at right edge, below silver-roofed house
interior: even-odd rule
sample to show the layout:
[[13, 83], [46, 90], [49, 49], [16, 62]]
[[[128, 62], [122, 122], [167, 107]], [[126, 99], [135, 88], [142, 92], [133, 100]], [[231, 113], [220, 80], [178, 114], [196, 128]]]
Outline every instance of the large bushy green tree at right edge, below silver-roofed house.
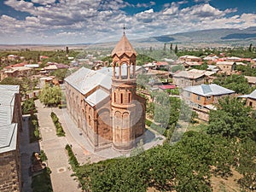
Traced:
[[207, 132], [224, 137], [249, 137], [256, 141], [256, 120], [250, 115], [252, 109], [245, 107], [238, 98], [228, 96], [218, 103], [217, 110], [210, 112]]

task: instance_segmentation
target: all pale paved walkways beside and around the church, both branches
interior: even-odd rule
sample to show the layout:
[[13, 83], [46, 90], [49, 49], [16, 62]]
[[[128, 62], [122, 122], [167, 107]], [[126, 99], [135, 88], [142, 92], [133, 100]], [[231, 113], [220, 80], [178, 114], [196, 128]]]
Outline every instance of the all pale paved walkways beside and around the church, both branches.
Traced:
[[[73, 153], [81, 165], [124, 155], [113, 150], [113, 148], [94, 151], [87, 137], [84, 136], [83, 131], [74, 124], [73, 120], [67, 114], [66, 108], [45, 108], [39, 101], [36, 101], [36, 106], [38, 109], [40, 132], [43, 138], [40, 142], [40, 148], [44, 150], [48, 157], [48, 166], [52, 171], [50, 176], [54, 192], [81, 191], [81, 189], [78, 189], [79, 183], [71, 177], [72, 170], [68, 164], [68, 156], [65, 150], [67, 143], [72, 145]], [[50, 118], [51, 112], [54, 112], [58, 116], [66, 132], [66, 137], [56, 136], [55, 125]], [[148, 134], [152, 137], [152, 133], [149, 132]], [[161, 142], [156, 140], [151, 143], [145, 143], [143, 147], [150, 148]]]

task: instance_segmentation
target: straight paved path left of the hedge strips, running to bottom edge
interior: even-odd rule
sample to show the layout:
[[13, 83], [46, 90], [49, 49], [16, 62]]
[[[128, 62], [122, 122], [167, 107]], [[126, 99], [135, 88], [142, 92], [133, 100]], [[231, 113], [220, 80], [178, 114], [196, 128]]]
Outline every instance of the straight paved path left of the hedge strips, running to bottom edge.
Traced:
[[68, 155], [65, 150], [67, 138], [56, 136], [55, 125], [50, 118], [51, 108], [44, 108], [38, 101], [36, 106], [42, 137], [40, 148], [48, 157], [47, 164], [52, 172], [50, 177], [54, 192], [80, 192], [79, 183], [71, 177], [73, 172], [68, 164]]

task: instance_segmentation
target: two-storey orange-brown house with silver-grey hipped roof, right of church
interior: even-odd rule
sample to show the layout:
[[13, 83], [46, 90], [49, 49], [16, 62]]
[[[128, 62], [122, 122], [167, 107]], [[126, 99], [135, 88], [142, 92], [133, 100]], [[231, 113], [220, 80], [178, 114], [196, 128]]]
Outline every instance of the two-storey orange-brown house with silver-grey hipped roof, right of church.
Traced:
[[198, 117], [203, 120], [209, 119], [210, 110], [215, 109], [214, 104], [224, 96], [235, 94], [235, 91], [226, 89], [218, 84], [200, 84], [183, 88], [183, 99]]

